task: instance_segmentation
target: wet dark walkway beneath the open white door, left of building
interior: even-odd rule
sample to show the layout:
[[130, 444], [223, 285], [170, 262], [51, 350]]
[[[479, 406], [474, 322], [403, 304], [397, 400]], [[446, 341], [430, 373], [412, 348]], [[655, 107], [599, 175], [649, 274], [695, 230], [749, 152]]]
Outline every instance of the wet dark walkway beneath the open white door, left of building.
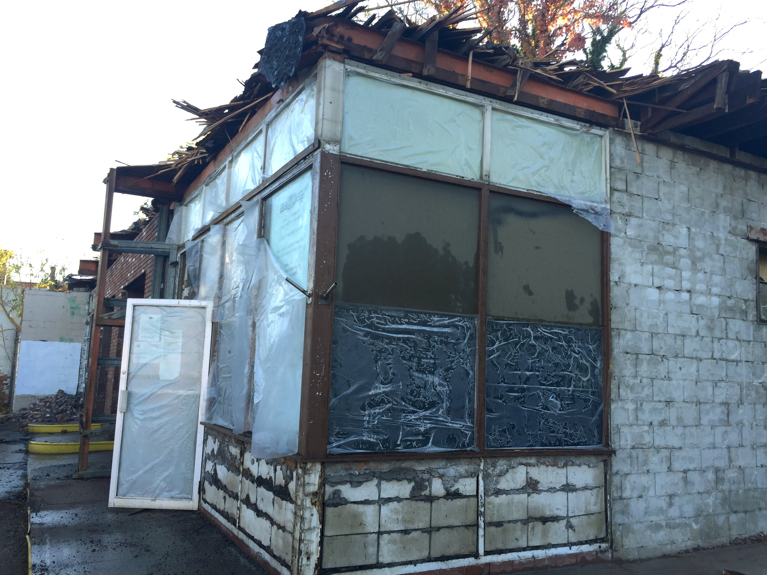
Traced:
[[77, 454], [28, 455], [31, 573], [264, 575], [199, 513], [109, 508], [109, 479], [72, 479], [76, 465]]

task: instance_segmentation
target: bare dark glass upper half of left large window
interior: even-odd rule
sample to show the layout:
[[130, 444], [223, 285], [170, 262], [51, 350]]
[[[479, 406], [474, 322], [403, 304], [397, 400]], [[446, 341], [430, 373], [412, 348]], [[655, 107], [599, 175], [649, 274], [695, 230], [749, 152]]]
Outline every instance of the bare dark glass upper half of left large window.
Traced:
[[341, 166], [337, 299], [476, 313], [479, 192]]

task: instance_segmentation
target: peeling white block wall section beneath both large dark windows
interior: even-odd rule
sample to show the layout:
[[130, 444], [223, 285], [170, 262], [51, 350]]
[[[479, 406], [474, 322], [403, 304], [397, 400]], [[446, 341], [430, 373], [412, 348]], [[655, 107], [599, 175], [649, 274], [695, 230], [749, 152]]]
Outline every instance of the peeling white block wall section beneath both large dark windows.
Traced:
[[604, 469], [593, 456], [326, 464], [321, 567], [445, 561], [481, 548], [492, 563], [493, 555], [604, 543]]

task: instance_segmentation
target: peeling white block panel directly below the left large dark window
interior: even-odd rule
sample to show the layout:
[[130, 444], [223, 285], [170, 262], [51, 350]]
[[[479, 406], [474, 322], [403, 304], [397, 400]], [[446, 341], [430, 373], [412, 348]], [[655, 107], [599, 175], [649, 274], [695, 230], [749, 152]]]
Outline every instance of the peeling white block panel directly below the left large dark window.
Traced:
[[321, 567], [476, 554], [478, 475], [478, 459], [325, 464]]

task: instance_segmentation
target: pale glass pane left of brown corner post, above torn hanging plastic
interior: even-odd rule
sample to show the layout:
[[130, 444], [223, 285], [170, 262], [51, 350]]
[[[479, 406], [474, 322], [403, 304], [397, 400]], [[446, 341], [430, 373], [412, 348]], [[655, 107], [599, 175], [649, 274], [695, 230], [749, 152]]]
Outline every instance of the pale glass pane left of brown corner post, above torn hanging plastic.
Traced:
[[309, 269], [311, 172], [282, 186], [264, 202], [264, 238], [279, 265], [302, 288]]

